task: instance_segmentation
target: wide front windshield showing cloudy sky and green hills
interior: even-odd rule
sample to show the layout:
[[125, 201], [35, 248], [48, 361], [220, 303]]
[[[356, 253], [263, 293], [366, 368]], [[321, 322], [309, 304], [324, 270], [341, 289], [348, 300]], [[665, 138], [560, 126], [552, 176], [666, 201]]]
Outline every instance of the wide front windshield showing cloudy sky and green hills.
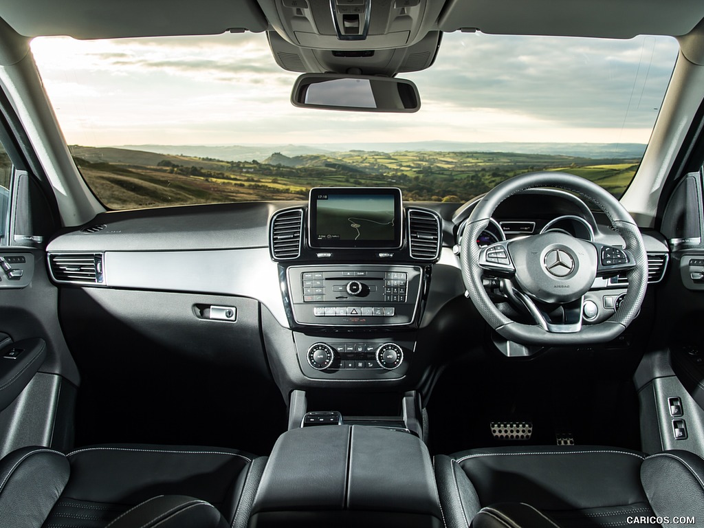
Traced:
[[75, 162], [108, 208], [306, 199], [399, 187], [467, 201], [532, 170], [621, 196], [677, 58], [670, 37], [444, 35], [403, 74], [417, 113], [295, 108], [264, 34], [32, 42]]

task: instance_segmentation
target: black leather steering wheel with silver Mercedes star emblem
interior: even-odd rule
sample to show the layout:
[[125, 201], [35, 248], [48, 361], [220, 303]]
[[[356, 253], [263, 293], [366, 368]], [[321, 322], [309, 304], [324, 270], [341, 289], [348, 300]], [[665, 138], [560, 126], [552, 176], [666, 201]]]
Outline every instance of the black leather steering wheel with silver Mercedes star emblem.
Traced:
[[[557, 187], [577, 193], [603, 210], [626, 246], [607, 246], [546, 232], [500, 241], [480, 248], [476, 240], [498, 205], [509, 196], [534, 187]], [[577, 345], [615, 339], [638, 315], [648, 286], [648, 258], [641, 232], [628, 211], [598, 185], [565, 172], [531, 172], [491, 189], [467, 219], [460, 249], [465, 287], [486, 322], [508, 341], [524, 345]], [[625, 274], [627, 293], [608, 320], [583, 325], [583, 296], [596, 277]], [[505, 294], [522, 303], [534, 325], [501, 313], [484, 288], [484, 277], [501, 280]], [[542, 308], [542, 309], [541, 309]], [[548, 313], [560, 313], [553, 322]]]

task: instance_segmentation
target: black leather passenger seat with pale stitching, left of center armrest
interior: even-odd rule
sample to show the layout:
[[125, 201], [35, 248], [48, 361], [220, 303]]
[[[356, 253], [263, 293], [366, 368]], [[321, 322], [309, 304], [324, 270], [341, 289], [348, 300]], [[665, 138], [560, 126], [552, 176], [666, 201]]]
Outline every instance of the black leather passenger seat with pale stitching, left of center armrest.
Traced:
[[[160, 527], [244, 527], [265, 461], [220, 448], [22, 448], [0, 460], [0, 527], [104, 528], [120, 516], [113, 526], [130, 526], [134, 516], [141, 527], [155, 508], [190, 518]], [[155, 500], [163, 495], [186, 497]]]

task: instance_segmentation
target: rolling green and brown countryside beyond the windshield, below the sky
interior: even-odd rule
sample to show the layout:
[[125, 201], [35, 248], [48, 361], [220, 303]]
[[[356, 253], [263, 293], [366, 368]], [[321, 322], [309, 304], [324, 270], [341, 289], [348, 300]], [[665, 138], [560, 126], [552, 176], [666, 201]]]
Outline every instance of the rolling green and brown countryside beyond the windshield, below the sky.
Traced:
[[72, 146], [96, 195], [115, 209], [230, 201], [306, 199], [311, 187], [399, 187], [406, 200], [463, 202], [523, 172], [560, 170], [620, 196], [638, 160], [520, 153], [350, 151], [258, 161], [220, 161]]

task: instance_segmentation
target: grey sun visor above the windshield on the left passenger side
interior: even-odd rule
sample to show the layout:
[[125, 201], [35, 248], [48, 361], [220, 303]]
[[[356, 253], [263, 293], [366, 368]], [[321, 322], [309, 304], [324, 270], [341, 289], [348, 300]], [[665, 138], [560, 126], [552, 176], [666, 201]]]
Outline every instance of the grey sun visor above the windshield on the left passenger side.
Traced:
[[25, 37], [77, 39], [260, 32], [255, 0], [3, 0], [0, 17]]

